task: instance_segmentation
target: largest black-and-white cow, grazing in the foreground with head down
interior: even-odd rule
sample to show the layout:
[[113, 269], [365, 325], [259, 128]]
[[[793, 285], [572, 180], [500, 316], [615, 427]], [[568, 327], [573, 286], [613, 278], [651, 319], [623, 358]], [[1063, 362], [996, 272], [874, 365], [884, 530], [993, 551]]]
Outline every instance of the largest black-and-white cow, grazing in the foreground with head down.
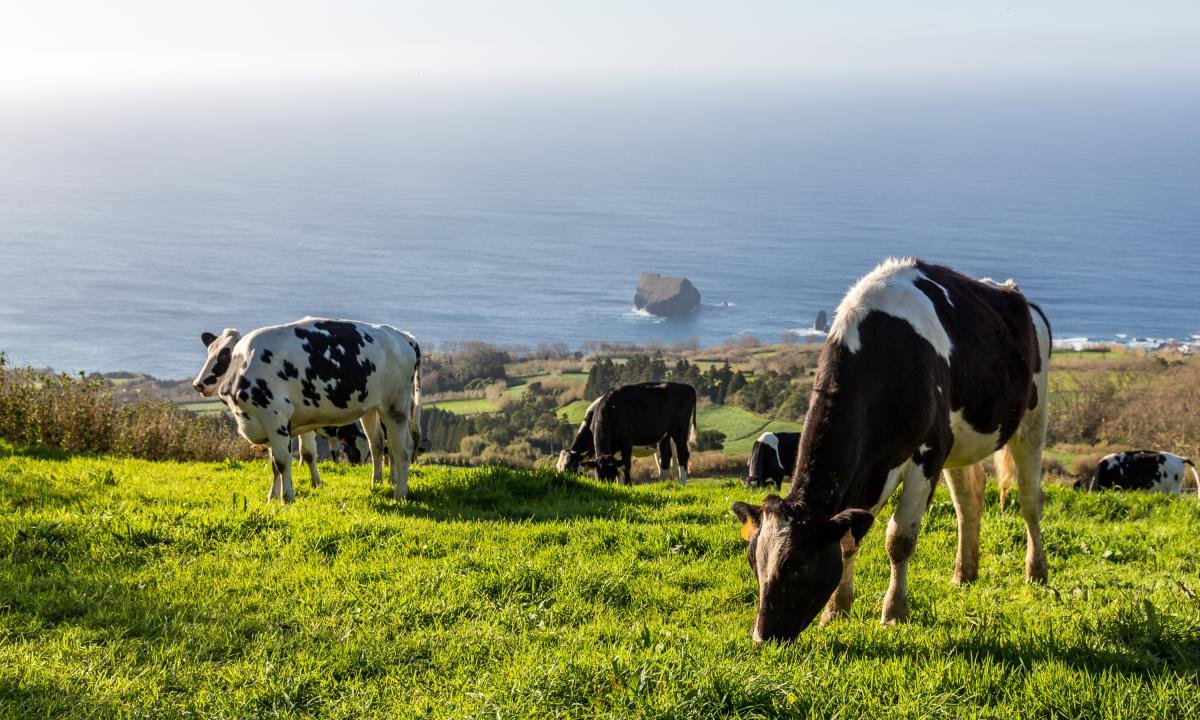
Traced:
[[821, 352], [787, 497], [734, 503], [758, 581], [752, 636], [794, 638], [826, 608], [850, 611], [859, 541], [898, 488], [888, 523], [884, 623], [908, 614], [917, 530], [947, 474], [959, 517], [955, 582], [978, 569], [983, 473], [1014, 475], [1027, 530], [1026, 578], [1044, 582], [1042, 446], [1050, 326], [1012, 282], [889, 259], [842, 299]]

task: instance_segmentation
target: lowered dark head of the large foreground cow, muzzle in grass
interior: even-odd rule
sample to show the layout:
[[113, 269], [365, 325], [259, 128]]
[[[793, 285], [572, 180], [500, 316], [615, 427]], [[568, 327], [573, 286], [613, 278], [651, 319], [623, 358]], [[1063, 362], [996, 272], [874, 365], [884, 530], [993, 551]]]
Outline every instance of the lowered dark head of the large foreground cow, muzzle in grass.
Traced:
[[778, 496], [762, 505], [733, 503], [733, 515], [758, 580], [755, 642], [794, 640], [812, 623], [841, 580], [841, 539], [848, 532], [862, 540], [875, 521], [866, 510], [823, 517]]

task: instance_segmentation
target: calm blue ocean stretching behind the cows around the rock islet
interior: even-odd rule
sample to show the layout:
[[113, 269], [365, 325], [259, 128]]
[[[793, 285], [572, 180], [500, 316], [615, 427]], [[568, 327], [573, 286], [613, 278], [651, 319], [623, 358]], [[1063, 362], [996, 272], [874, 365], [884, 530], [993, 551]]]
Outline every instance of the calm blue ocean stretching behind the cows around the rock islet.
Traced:
[[[776, 342], [889, 256], [1057, 337], [1200, 338], [1200, 90], [1170, 83], [163, 91], [0, 112], [0, 350], [186, 378], [306, 314], [426, 344]], [[641, 272], [692, 314], [632, 311]]]

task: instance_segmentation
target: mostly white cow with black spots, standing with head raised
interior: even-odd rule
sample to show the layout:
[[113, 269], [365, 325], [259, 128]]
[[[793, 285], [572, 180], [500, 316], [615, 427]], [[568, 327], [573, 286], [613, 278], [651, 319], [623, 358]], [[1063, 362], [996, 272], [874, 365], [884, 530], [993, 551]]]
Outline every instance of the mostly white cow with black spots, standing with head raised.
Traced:
[[228, 328], [200, 338], [209, 352], [193, 386], [229, 407], [244, 438], [270, 448], [268, 499], [295, 498], [292, 436], [300, 436], [300, 455], [317, 486], [313, 431], [359, 419], [371, 448], [372, 481], [383, 479], [382, 424], [395, 497], [408, 494], [408, 464], [420, 444], [421, 350], [412, 335], [389, 325], [304, 318], [245, 336]]

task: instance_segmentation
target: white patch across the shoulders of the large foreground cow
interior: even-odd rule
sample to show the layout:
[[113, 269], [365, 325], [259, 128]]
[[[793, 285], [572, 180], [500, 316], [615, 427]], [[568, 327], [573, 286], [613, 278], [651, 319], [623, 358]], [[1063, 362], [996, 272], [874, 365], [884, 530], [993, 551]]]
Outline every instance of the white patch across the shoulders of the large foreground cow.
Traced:
[[[932, 281], [917, 270], [916, 264], [916, 258], [888, 258], [856, 282], [838, 305], [829, 338], [842, 343], [851, 353], [857, 353], [862, 348], [858, 325], [871, 312], [882, 312], [912, 325], [917, 335], [925, 338], [934, 352], [949, 362], [950, 336], [937, 319], [934, 302], [913, 284], [918, 280]], [[937, 287], [949, 301], [950, 295], [946, 288]]]

